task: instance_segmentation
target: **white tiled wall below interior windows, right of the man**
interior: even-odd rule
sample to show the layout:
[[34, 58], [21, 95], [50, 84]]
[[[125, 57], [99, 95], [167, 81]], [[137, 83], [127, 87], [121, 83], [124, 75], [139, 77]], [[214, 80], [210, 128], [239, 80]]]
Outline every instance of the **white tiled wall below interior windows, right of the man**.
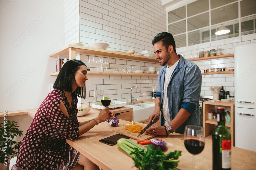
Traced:
[[[240, 44], [248, 44], [256, 41], [256, 34], [243, 35], [241, 37], [228, 38], [209, 43], [197, 44], [189, 47], [176, 48], [177, 54], [183, 54], [183, 57], [190, 59], [191, 55], [198, 56], [199, 51], [206, 51], [217, 48], [225, 49], [225, 54], [233, 54], [234, 48]], [[241, 56], [242, 57], [242, 56]], [[234, 57], [219, 58], [212, 60], [200, 60], [195, 62], [201, 72], [209, 68], [234, 69]], [[236, 70], [235, 70], [236, 71]], [[234, 73], [229, 74], [208, 74], [202, 75], [201, 95], [211, 95], [211, 86], [223, 86], [224, 90], [230, 91], [234, 86]], [[236, 94], [236, 92], [235, 92]]]

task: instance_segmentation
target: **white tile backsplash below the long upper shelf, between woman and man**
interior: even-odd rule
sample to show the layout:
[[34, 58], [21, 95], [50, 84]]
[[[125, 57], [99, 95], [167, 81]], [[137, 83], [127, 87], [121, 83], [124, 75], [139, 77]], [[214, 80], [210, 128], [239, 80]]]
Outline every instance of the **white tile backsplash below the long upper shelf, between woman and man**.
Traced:
[[[80, 60], [83, 61], [88, 68], [92, 70], [92, 64], [88, 66], [88, 59], [94, 61], [102, 59], [109, 63], [114, 63], [114, 68], [122, 69], [130, 67], [136, 68], [135, 70], [148, 70], [154, 64], [156, 71], [159, 71], [162, 67], [158, 63], [152, 63], [147, 61], [130, 61], [129, 59], [109, 58], [106, 56], [80, 54]], [[146, 66], [146, 67], [145, 67]], [[109, 66], [102, 68], [103, 71], [113, 71]], [[95, 64], [93, 70], [97, 71]], [[98, 71], [101, 71], [101, 67], [98, 67]], [[86, 81], [86, 99], [79, 99], [78, 106], [88, 104], [91, 106], [94, 102], [100, 101], [100, 97], [93, 97], [94, 90], [100, 90], [100, 93], [110, 93], [111, 100], [130, 102], [130, 89], [132, 86], [138, 86], [141, 89], [142, 94], [138, 88], [132, 89], [133, 99], [145, 100], [151, 99], [152, 86], [158, 86], [158, 76], [133, 76], [133, 75], [88, 75], [88, 81]]]

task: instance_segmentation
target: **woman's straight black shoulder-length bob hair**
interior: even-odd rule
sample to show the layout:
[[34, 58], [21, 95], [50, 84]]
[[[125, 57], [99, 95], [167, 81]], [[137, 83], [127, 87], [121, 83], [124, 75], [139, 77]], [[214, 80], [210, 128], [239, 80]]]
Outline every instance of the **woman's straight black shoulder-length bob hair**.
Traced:
[[[64, 89], [65, 91], [69, 91], [72, 93], [73, 88], [73, 80], [75, 79], [75, 73], [79, 69], [80, 66], [86, 66], [82, 61], [80, 60], [69, 60], [67, 61], [63, 67], [60, 69], [59, 75], [57, 76], [57, 79], [53, 85], [53, 88], [57, 89]], [[77, 97], [86, 97], [86, 88], [85, 84], [84, 86], [77, 87], [77, 89], [72, 93], [73, 96]]]

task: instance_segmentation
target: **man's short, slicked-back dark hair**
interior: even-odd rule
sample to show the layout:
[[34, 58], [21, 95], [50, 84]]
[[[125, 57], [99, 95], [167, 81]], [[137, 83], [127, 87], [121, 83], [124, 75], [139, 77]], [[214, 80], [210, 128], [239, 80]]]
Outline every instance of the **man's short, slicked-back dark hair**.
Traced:
[[159, 34], [156, 34], [156, 36], [154, 37], [154, 39], [152, 40], [152, 44], [154, 45], [155, 43], [162, 41], [162, 45], [165, 46], [166, 50], [168, 49], [168, 47], [170, 45], [173, 46], [173, 50], [176, 53], [176, 49], [175, 49], [175, 41], [173, 38], [173, 35], [171, 33], [168, 32], [161, 32]]

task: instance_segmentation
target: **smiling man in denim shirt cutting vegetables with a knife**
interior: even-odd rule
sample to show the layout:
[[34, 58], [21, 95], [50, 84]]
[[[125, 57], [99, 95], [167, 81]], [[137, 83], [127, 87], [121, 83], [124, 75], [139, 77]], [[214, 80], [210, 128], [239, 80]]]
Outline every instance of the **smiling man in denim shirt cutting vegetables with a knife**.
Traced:
[[172, 34], [162, 32], [152, 41], [156, 59], [161, 66], [155, 96], [155, 110], [148, 124], [160, 117], [161, 126], [146, 130], [147, 135], [184, 134], [186, 125], [202, 126], [199, 99], [202, 75], [198, 66], [177, 55]]

